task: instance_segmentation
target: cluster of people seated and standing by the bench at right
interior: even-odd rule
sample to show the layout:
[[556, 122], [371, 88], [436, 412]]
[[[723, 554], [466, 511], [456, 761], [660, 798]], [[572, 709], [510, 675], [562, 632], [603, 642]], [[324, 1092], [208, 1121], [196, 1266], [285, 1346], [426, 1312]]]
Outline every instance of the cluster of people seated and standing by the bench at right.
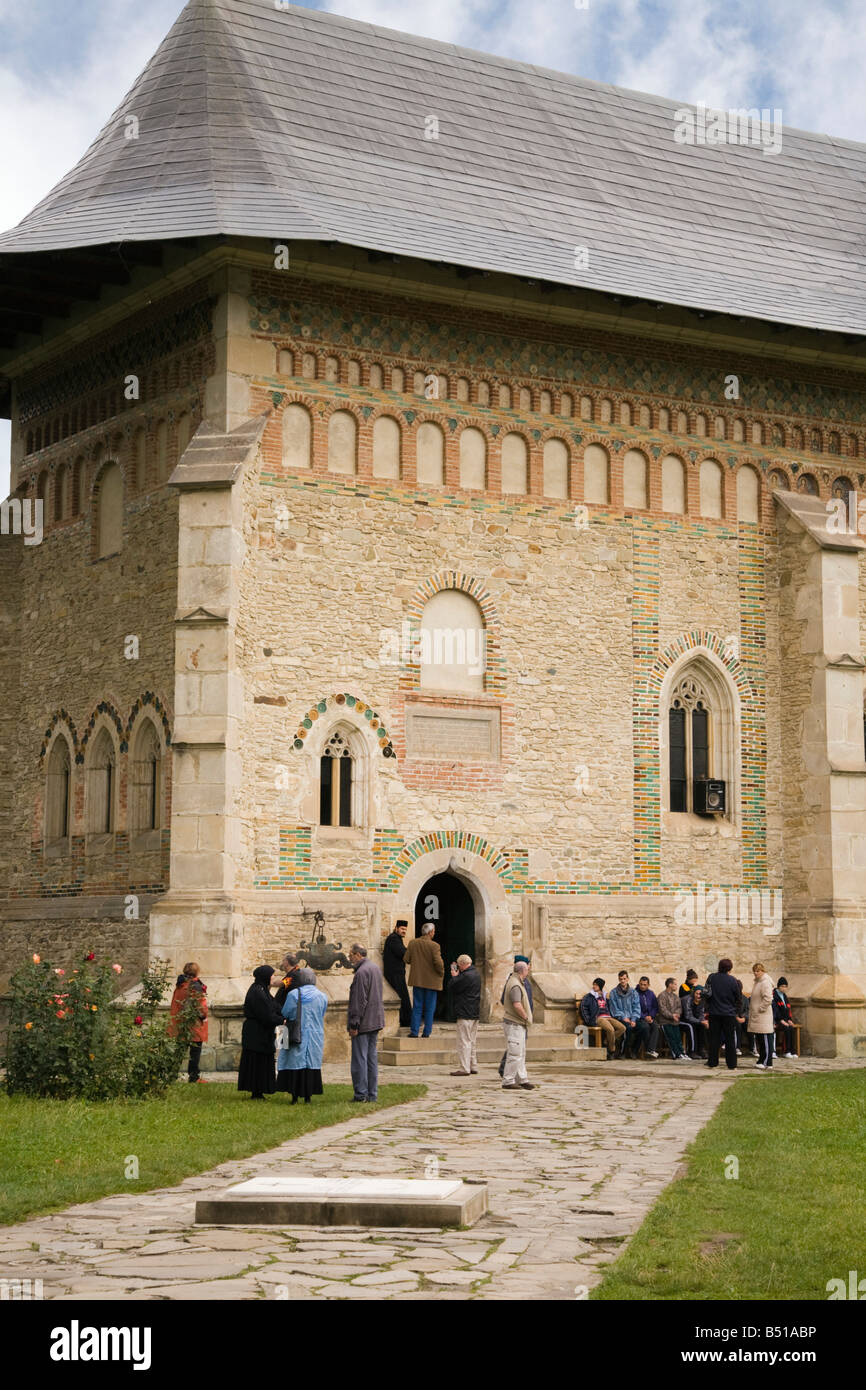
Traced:
[[751, 1051], [758, 1056], [758, 1070], [767, 1072], [774, 1056], [796, 1056], [788, 981], [780, 976], [773, 984], [762, 962], [756, 962], [752, 966], [752, 992], [745, 995], [742, 981], [733, 974], [733, 960], [726, 956], [705, 984], [699, 983], [696, 970], [687, 970], [685, 983], [680, 986], [671, 974], [659, 995], [651, 990], [645, 974], [635, 990], [628, 972], [620, 970], [617, 984], [609, 994], [598, 976], [580, 1001], [578, 1027], [602, 1030], [609, 1059], [637, 1058], [641, 1047], [646, 1058], [656, 1059], [659, 1040], [664, 1034], [676, 1061], [703, 1058], [705, 1066], [716, 1068], [724, 1044], [728, 1070], [735, 1069], [738, 1056]]

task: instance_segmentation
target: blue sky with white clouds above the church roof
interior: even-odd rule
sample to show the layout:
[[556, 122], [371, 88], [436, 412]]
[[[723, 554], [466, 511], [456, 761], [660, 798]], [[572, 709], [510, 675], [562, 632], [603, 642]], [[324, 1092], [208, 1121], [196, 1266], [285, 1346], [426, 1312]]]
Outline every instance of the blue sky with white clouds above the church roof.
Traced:
[[[0, 0], [0, 229], [81, 158], [182, 8], [183, 0]], [[683, 103], [780, 108], [785, 125], [866, 140], [863, 0], [318, 0], [307, 8]], [[0, 421], [7, 492], [8, 423]]]

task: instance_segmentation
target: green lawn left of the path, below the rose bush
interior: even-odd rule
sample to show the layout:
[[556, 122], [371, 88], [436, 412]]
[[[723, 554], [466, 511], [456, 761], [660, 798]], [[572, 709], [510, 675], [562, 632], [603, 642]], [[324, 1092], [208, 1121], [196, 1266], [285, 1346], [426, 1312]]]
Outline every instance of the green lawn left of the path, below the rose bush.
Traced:
[[[229, 1158], [275, 1148], [295, 1134], [357, 1119], [423, 1095], [382, 1086], [377, 1105], [354, 1105], [350, 1086], [327, 1086], [309, 1105], [288, 1095], [250, 1101], [225, 1081], [178, 1084], [147, 1101], [35, 1101], [0, 1093], [0, 1225], [110, 1193], [170, 1187]], [[128, 1155], [138, 1180], [125, 1176]]]

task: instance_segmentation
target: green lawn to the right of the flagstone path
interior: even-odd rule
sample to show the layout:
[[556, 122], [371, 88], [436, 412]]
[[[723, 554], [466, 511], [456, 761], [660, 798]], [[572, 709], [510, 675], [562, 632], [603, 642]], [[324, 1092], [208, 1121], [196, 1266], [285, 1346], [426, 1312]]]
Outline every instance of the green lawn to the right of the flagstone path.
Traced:
[[866, 1072], [738, 1081], [591, 1298], [826, 1300], [866, 1275], [865, 1145]]

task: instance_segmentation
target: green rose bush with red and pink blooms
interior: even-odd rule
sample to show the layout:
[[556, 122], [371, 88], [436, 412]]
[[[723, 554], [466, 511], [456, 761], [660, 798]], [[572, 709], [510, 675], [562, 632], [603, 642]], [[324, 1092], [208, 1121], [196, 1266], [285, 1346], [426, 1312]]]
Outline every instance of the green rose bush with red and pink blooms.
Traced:
[[168, 988], [168, 962], [153, 960], [139, 998], [117, 998], [118, 965], [99, 965], [89, 952], [65, 974], [38, 955], [11, 979], [6, 1041], [10, 1094], [108, 1101], [158, 1095], [178, 1080], [197, 1001], [188, 1001], [168, 1033], [158, 1006]]

